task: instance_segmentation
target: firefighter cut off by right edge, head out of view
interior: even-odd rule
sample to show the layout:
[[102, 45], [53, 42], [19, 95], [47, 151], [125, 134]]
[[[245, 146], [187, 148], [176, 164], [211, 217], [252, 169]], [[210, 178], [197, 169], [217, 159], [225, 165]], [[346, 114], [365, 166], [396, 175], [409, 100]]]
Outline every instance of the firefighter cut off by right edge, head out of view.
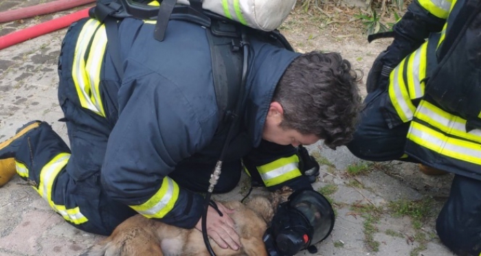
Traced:
[[436, 229], [454, 253], [480, 255], [481, 1], [411, 3], [367, 87], [350, 151], [421, 163], [426, 174], [454, 173]]

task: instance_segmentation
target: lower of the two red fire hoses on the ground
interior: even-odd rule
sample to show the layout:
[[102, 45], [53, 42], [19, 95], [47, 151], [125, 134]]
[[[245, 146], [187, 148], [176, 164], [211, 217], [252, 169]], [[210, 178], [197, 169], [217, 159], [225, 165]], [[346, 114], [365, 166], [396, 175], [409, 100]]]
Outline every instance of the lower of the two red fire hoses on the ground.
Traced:
[[27, 27], [23, 30], [6, 34], [5, 36], [0, 36], [0, 50], [17, 43], [22, 43], [26, 40], [36, 38], [37, 36], [54, 32], [55, 30], [60, 30], [63, 27], [68, 27], [71, 23], [89, 16], [89, 9], [90, 8], [86, 8], [57, 19], [52, 19], [51, 21], [34, 25], [33, 27]]

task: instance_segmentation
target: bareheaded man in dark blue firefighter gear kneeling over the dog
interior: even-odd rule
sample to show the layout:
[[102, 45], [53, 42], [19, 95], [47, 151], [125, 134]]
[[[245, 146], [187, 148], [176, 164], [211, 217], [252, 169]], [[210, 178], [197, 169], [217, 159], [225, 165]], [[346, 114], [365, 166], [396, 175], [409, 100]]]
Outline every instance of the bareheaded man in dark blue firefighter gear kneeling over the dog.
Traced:
[[[159, 13], [168, 8], [162, 5]], [[69, 224], [102, 235], [135, 213], [201, 229], [203, 196], [197, 192], [207, 191], [221, 152], [225, 157], [214, 192], [233, 189], [242, 166], [268, 189], [288, 185], [312, 191], [303, 174], [315, 168], [315, 161], [302, 145], [324, 139], [336, 148], [353, 137], [361, 103], [349, 62], [335, 53], [295, 53], [272, 34], [237, 23], [212, 18], [211, 27], [199, 25], [192, 21], [205, 17], [201, 10], [189, 13], [199, 16], [170, 20], [162, 40], [153, 36], [152, 19], [114, 21], [116, 38], [109, 34], [108, 20], [72, 24], [58, 62], [58, 99], [70, 148], [49, 124], [31, 121], [0, 144], [0, 176], [10, 178], [16, 170]], [[238, 27], [247, 42], [234, 36], [219, 44], [223, 38], [216, 33], [236, 34]], [[236, 52], [247, 43], [248, 58], [238, 62]], [[230, 47], [228, 54], [219, 54], [222, 45]], [[236, 75], [243, 65], [248, 72]], [[225, 82], [221, 78], [231, 83], [232, 77], [243, 78], [245, 93], [232, 91], [238, 86], [217, 87]], [[232, 95], [240, 97], [240, 105], [232, 104]], [[226, 118], [231, 105], [240, 106], [234, 123]], [[234, 136], [223, 151], [230, 130]], [[295, 202], [314, 205], [319, 198], [298, 195]], [[232, 211], [216, 205], [221, 213]], [[300, 215], [316, 207], [293, 218], [304, 218]], [[236, 250], [232, 219], [212, 207], [208, 213], [208, 235]], [[311, 223], [303, 242], [324, 239], [331, 222]], [[327, 227], [320, 236], [321, 225]], [[283, 232], [277, 229], [274, 235]]]

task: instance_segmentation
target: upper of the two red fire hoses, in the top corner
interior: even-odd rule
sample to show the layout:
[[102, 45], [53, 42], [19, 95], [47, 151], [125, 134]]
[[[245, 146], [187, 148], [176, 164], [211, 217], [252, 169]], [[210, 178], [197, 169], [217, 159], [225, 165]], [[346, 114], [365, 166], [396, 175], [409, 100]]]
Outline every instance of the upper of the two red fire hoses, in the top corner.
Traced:
[[30, 18], [33, 16], [49, 14], [61, 10], [67, 10], [96, 0], [57, 0], [49, 3], [42, 3], [16, 10], [0, 12], [0, 23], [18, 21], [19, 19]]

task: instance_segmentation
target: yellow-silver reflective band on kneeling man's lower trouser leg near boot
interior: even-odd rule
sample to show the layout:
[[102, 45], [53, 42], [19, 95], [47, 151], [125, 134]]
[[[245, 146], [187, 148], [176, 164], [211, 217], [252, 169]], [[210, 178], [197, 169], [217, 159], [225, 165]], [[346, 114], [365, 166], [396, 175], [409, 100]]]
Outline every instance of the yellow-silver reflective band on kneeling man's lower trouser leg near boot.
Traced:
[[[47, 200], [50, 207], [67, 221], [74, 224], [82, 224], [87, 222], [87, 218], [83, 216], [78, 207], [74, 209], [67, 209], [64, 205], [56, 205], [52, 200], [52, 188], [55, 178], [58, 173], [63, 170], [67, 162], [69, 161], [70, 154], [60, 153], [54, 157], [49, 163], [47, 163], [40, 172], [40, 182], [38, 183], [38, 189], [36, 191], [43, 199]], [[24, 165], [25, 166], [25, 165]], [[27, 171], [28, 172], [28, 171]]]

